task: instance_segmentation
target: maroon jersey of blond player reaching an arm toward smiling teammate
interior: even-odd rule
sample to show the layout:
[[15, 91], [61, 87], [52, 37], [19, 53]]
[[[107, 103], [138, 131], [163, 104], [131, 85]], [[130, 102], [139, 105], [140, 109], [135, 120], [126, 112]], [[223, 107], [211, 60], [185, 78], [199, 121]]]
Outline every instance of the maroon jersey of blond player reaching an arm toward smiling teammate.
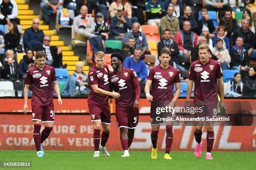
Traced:
[[99, 88], [109, 91], [109, 81], [108, 81], [108, 66], [103, 65], [103, 68], [100, 69], [94, 65], [89, 71], [89, 85], [90, 85], [90, 93], [88, 96], [88, 104], [94, 105], [108, 105], [108, 95], [101, 95], [99, 93], [95, 93], [92, 90], [91, 85], [98, 85]]

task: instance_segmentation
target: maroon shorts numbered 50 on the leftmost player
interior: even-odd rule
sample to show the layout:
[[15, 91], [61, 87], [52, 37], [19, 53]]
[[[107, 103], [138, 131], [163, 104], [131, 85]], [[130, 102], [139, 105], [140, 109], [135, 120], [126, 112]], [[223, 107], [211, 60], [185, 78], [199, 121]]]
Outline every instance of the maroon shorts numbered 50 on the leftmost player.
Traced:
[[54, 106], [32, 105], [32, 120], [54, 122]]

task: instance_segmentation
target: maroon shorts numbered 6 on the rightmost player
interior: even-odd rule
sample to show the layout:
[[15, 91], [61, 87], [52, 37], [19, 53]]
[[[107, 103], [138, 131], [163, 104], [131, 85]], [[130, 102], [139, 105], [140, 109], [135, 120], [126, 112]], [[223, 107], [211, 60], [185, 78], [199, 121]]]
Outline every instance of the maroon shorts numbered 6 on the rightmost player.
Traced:
[[198, 105], [195, 104], [194, 107], [201, 107], [198, 112], [194, 113], [194, 117], [216, 117], [218, 112], [218, 103], [213, 103], [209, 105]]

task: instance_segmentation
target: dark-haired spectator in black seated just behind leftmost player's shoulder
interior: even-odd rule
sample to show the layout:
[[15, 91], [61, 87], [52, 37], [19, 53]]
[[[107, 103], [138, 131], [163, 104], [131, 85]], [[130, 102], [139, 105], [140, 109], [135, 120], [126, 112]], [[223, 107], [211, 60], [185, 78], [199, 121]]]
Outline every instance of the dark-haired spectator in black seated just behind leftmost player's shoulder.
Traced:
[[23, 56], [23, 59], [20, 60], [19, 72], [20, 72], [20, 77], [22, 79], [25, 79], [27, 70], [30, 67], [34, 66], [33, 56], [34, 56], [33, 51], [31, 49], [29, 49], [29, 50], [27, 50], [26, 55]]

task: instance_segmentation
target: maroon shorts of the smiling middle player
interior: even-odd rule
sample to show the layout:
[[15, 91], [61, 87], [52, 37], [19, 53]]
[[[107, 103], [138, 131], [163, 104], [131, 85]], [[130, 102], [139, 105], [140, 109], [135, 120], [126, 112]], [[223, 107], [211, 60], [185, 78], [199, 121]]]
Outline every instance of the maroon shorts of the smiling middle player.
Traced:
[[115, 117], [118, 128], [134, 129], [138, 125], [138, 108], [116, 108]]

